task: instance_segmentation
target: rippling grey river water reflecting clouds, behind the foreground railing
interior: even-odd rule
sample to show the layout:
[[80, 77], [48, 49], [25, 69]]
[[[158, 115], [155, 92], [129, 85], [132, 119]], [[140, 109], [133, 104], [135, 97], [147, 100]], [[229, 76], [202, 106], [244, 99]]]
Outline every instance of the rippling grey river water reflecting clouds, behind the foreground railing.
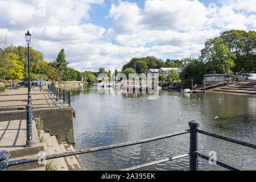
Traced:
[[[76, 150], [156, 137], [189, 129], [188, 121], [200, 129], [244, 142], [255, 143], [256, 98], [217, 93], [159, 91], [147, 94], [100, 94], [97, 87], [79, 86], [72, 92], [76, 110], [73, 127]], [[214, 117], [219, 117], [214, 120]], [[80, 155], [82, 165], [92, 170], [119, 170], [189, 151], [189, 134], [154, 142]], [[256, 151], [199, 134], [199, 152], [242, 170], [256, 170]], [[209, 153], [211, 152], [211, 153]], [[142, 170], [188, 170], [189, 157], [142, 168]], [[226, 170], [199, 158], [200, 170]]]

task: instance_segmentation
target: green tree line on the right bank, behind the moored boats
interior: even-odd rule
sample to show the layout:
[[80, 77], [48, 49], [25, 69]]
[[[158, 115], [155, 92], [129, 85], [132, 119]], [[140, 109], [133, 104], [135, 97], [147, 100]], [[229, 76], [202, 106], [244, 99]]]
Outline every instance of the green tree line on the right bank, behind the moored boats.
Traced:
[[[200, 53], [197, 59], [192, 56], [166, 61], [152, 56], [133, 58], [123, 65], [122, 72], [128, 75], [135, 72], [145, 73], [148, 69], [183, 67], [179, 77], [171, 71], [173, 76], [168, 80], [180, 78], [184, 86], [190, 86], [191, 79], [201, 84], [205, 74], [256, 72], [256, 32], [244, 30], [222, 32], [220, 36], [208, 39]], [[159, 80], [164, 78], [159, 76]]]

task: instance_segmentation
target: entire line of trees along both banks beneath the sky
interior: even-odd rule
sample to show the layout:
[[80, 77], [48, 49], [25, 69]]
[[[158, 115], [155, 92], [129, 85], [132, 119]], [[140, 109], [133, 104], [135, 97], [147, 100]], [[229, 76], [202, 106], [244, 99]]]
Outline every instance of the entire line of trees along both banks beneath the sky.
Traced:
[[[9, 45], [10, 44], [10, 45]], [[7, 37], [0, 39], [0, 77], [7, 79], [28, 78], [28, 55], [27, 47], [13, 46], [7, 41]], [[256, 32], [244, 30], [230, 30], [220, 36], [205, 42], [200, 56], [185, 57], [180, 60], [157, 59], [153, 56], [134, 57], [122, 67], [122, 73], [127, 77], [129, 73], [145, 73], [148, 69], [179, 68], [183, 71], [177, 75], [172, 71], [168, 78], [171, 80], [182, 80], [184, 86], [191, 83], [191, 79], [197, 84], [203, 81], [203, 75], [215, 73], [242, 73], [256, 72]], [[65, 59], [64, 49], [61, 49], [56, 60], [48, 63], [44, 61], [43, 53], [30, 48], [30, 73], [31, 80], [45, 78], [58, 81], [81, 81], [97, 82], [100, 73], [106, 73], [108, 77], [116, 76], [117, 69], [112, 73], [110, 70], [100, 68], [98, 72], [79, 72], [69, 68], [69, 62]], [[164, 77], [159, 77], [164, 80]]]

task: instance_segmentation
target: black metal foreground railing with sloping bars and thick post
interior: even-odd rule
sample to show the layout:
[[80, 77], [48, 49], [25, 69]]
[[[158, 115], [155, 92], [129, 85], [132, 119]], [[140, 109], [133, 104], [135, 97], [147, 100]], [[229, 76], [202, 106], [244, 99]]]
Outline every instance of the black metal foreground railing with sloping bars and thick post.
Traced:
[[[198, 148], [199, 148], [198, 147], [198, 133], [256, 149], [255, 144], [246, 143], [246, 142], [242, 142], [240, 140], [223, 137], [221, 135], [217, 135], [217, 134], [209, 133], [207, 131], [199, 130], [198, 128], [200, 126], [200, 123], [197, 121], [189, 121], [188, 125], [189, 125], [190, 129], [184, 130], [184, 131], [179, 131], [176, 133], [161, 135], [161, 136], [153, 137], [153, 138], [135, 140], [132, 142], [111, 144], [109, 146], [86, 148], [84, 150], [70, 151], [70, 152], [57, 153], [57, 154], [53, 154], [53, 155], [47, 155], [46, 160], [55, 159], [55, 158], [63, 158], [63, 157], [72, 156], [72, 155], [87, 154], [87, 153], [96, 152], [96, 151], [110, 150], [113, 148], [126, 147], [126, 146], [135, 145], [135, 144], [147, 143], [147, 142], [152, 142], [152, 141], [160, 140], [160, 139], [164, 139], [164, 138], [175, 137], [175, 136], [183, 135], [183, 134], [187, 134], [187, 133], [190, 134], [189, 152], [187, 154], [182, 154], [182, 155], [174, 156], [174, 157], [167, 158], [167, 159], [157, 160], [154, 162], [141, 164], [139, 166], [125, 168], [122, 170], [130, 171], [130, 170], [148, 167], [148, 166], [152, 166], [155, 164], [159, 164], [159, 163], [163, 163], [163, 162], [167, 162], [167, 161], [171, 161], [171, 160], [176, 160], [176, 159], [180, 159], [180, 158], [185, 158], [185, 157], [189, 156], [189, 170], [190, 171], [198, 171], [199, 170], [199, 160], [198, 160], [199, 157], [202, 159], [205, 159], [205, 160], [210, 160], [210, 158], [208, 156], [200, 154], [200, 152], [198, 150]], [[9, 161], [8, 157], [9, 157], [9, 151], [3, 151], [3, 150], [1, 151], [0, 150], [0, 171], [7, 171], [8, 167], [10, 167], [10, 166], [15, 166], [15, 165], [24, 164], [24, 163], [31, 163], [31, 162], [36, 162], [36, 161], [41, 160], [40, 158], [32, 158], [32, 159], [20, 159], [20, 160]], [[224, 167], [224, 168], [232, 170], [232, 171], [239, 171], [239, 169], [229, 166], [228, 164], [219, 162], [217, 160], [216, 160], [216, 164], [218, 166]]]

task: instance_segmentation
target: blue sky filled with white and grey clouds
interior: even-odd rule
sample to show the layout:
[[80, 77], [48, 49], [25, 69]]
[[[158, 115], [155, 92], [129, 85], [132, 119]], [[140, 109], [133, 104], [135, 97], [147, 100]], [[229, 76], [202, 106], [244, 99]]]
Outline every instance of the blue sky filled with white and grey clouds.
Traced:
[[0, 36], [68, 67], [121, 71], [133, 57], [197, 58], [221, 32], [256, 31], [255, 0], [0, 0]]

